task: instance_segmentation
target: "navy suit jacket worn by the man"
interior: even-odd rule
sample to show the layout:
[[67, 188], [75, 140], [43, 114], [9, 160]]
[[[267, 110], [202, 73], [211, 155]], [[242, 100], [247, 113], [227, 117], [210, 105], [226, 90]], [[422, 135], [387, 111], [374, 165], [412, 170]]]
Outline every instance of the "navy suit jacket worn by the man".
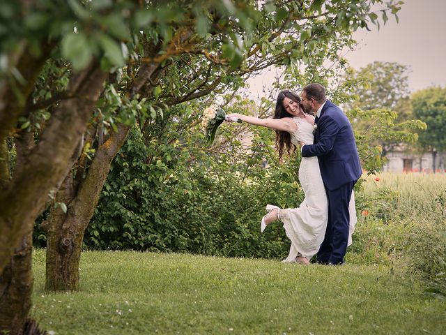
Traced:
[[362, 174], [360, 157], [353, 128], [344, 112], [328, 100], [316, 124], [314, 144], [304, 145], [302, 156], [318, 156], [323, 183], [330, 191], [357, 181]]

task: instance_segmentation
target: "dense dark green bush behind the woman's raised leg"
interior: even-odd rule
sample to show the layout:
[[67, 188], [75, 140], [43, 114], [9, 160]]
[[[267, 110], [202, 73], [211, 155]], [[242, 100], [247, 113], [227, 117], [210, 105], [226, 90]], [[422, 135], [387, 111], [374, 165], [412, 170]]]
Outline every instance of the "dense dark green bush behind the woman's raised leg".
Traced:
[[298, 160], [281, 165], [270, 148], [258, 147], [237, 163], [225, 154], [192, 156], [180, 144], [148, 147], [134, 128], [112, 164], [86, 248], [284, 258], [290, 242], [282, 226], [261, 234], [260, 220], [267, 203], [302, 201]]

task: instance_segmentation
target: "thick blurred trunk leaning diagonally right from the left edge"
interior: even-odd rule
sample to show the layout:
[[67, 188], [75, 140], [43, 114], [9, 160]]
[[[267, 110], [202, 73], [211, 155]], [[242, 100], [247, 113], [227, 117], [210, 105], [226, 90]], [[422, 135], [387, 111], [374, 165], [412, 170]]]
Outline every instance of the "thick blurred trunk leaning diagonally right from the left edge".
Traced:
[[76, 97], [59, 104], [38, 144], [0, 193], [0, 272], [20, 240], [32, 231], [47, 195], [71, 168], [70, 157], [86, 130], [106, 78], [98, 64], [73, 75], [68, 89]]

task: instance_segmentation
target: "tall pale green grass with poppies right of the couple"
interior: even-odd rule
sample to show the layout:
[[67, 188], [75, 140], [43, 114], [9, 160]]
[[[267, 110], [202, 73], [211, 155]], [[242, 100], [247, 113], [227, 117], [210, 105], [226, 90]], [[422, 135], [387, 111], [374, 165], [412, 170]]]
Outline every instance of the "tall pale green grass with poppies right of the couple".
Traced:
[[351, 257], [406, 265], [427, 291], [446, 297], [446, 174], [369, 177], [357, 208]]

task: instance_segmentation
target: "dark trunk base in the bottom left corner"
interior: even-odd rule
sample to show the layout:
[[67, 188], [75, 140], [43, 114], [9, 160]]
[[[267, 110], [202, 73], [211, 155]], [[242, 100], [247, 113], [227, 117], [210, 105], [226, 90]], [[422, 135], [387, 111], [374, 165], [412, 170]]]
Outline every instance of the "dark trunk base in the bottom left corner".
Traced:
[[32, 247], [29, 233], [0, 275], [0, 334], [23, 334], [33, 290]]

